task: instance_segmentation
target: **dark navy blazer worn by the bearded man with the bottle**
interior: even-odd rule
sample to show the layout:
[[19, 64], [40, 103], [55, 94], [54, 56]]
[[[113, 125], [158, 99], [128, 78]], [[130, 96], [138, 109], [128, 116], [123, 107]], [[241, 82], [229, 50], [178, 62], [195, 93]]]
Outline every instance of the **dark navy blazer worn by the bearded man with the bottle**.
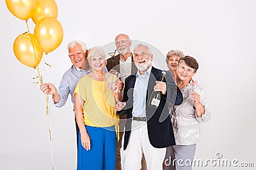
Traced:
[[[166, 95], [161, 97], [160, 104], [158, 108], [148, 106], [149, 98], [156, 85], [156, 80], [161, 77], [162, 71], [152, 67], [150, 77], [147, 86], [147, 106], [146, 106], [146, 117], [147, 117], [147, 128], [148, 128], [148, 138], [152, 146], [155, 148], [165, 148], [168, 146], [175, 145], [175, 138], [172, 129], [172, 122], [169, 116], [168, 105], [173, 106], [182, 103], [182, 93], [180, 92], [177, 85], [172, 79], [172, 75], [166, 71], [166, 77], [164, 82], [166, 82], [167, 89]], [[124, 99], [126, 106], [122, 111], [117, 111], [118, 114], [127, 114], [127, 121], [125, 124], [125, 136], [124, 136], [124, 150], [127, 148], [130, 134], [131, 134], [131, 122], [132, 122], [132, 108], [133, 108], [133, 90], [136, 81], [136, 74], [125, 79], [124, 88]]]

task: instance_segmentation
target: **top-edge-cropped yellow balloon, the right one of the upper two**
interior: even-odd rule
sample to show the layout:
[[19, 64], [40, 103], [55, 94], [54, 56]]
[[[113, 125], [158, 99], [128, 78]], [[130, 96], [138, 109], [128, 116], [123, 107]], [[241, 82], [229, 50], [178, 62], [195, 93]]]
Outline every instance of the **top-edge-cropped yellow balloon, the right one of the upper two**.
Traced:
[[54, 0], [36, 0], [36, 8], [33, 11], [32, 20], [36, 24], [44, 17], [58, 17], [58, 6]]

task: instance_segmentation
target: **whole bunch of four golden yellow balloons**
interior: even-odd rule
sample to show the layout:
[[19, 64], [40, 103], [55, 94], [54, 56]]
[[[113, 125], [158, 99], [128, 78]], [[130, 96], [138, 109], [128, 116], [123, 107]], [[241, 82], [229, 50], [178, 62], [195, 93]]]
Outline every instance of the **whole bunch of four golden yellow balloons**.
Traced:
[[58, 6], [54, 0], [5, 0], [8, 10], [20, 20], [32, 18], [34, 34], [21, 33], [13, 43], [15, 57], [29, 67], [37, 67], [43, 52], [58, 48], [63, 40], [63, 27], [57, 20]]

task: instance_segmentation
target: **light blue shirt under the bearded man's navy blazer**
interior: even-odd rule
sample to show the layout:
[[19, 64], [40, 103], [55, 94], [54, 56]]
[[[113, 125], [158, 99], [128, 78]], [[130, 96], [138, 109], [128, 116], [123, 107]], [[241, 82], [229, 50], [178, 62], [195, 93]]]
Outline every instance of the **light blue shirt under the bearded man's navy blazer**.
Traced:
[[133, 91], [133, 117], [146, 117], [146, 97], [148, 80], [151, 73], [152, 66], [148, 68], [144, 75], [140, 71], [136, 74], [136, 81]]

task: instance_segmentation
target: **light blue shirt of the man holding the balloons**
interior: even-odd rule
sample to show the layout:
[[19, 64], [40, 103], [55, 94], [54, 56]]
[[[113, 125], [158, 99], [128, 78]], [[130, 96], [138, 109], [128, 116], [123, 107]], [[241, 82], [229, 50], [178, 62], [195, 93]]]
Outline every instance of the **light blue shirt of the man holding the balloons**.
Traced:
[[[59, 86], [59, 94], [60, 94], [60, 101], [58, 103], [54, 103], [54, 106], [61, 108], [64, 106], [68, 99], [68, 95], [71, 96], [71, 101], [74, 104], [75, 99], [73, 97], [74, 90], [76, 88], [77, 82], [81, 77], [86, 74], [89, 74], [91, 70], [85, 71], [84, 69], [77, 69], [74, 65], [72, 65], [62, 76], [60, 86]], [[104, 67], [104, 72], [108, 72], [108, 69]]]

